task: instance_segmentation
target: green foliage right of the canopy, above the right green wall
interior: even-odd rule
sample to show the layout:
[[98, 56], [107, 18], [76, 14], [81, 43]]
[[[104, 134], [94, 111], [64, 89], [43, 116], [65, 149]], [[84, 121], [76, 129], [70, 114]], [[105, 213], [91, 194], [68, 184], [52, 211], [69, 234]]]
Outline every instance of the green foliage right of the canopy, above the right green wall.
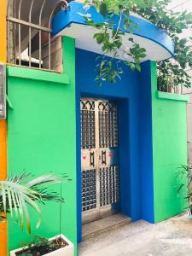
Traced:
[[158, 68], [158, 87], [167, 90], [167, 87], [181, 85], [190, 87], [191, 76], [186, 71], [192, 67], [192, 38], [184, 38], [182, 33], [192, 27], [192, 13], [187, 11], [174, 12], [168, 9], [172, 0], [149, 0], [147, 6], [135, 6], [133, 11], [155, 26], [165, 30], [172, 38], [175, 56], [166, 61], [160, 61]]

